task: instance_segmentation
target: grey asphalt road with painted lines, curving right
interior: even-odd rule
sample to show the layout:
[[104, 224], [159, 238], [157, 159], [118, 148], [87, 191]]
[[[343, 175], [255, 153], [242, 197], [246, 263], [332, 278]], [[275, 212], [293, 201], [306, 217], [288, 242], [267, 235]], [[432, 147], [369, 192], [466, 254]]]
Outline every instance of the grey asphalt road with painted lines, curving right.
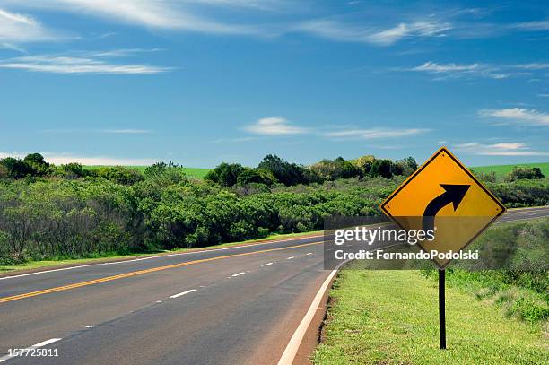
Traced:
[[[515, 210], [499, 222], [549, 215]], [[326, 280], [322, 237], [0, 278], [0, 361], [276, 363]], [[7, 357], [9, 349], [58, 357]], [[4, 357], [3, 357], [4, 356]]]

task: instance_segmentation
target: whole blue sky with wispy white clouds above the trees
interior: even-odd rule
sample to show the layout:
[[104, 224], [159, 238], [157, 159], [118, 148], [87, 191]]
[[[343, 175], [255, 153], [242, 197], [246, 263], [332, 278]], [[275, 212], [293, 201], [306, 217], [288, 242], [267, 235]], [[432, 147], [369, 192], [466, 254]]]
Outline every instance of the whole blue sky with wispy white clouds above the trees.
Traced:
[[0, 157], [549, 161], [543, 2], [0, 0]]

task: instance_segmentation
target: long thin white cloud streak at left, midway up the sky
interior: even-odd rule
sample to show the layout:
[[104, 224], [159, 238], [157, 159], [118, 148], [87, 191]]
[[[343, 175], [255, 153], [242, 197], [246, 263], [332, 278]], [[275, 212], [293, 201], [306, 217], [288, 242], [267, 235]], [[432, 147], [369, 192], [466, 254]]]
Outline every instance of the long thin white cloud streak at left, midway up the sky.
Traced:
[[168, 67], [114, 64], [92, 57], [21, 56], [0, 60], [0, 68], [53, 74], [160, 74]]

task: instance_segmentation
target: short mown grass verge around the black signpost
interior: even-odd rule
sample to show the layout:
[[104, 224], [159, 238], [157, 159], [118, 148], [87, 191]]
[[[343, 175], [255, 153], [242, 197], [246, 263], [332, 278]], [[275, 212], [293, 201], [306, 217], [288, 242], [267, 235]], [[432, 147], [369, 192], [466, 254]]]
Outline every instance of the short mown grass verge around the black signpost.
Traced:
[[[354, 264], [351, 264], [354, 265]], [[330, 291], [315, 364], [541, 364], [547, 339], [496, 307], [447, 288], [439, 349], [436, 282], [415, 271], [343, 270]]]

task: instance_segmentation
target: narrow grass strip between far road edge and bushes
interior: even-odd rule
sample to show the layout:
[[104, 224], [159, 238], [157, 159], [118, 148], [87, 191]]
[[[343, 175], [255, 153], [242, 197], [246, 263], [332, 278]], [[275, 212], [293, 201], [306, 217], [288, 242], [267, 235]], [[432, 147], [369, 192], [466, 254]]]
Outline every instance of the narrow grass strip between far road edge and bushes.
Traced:
[[1, 273], [8, 273], [8, 272], [18, 272], [22, 270], [31, 270], [31, 269], [38, 269], [41, 267], [50, 267], [50, 266], [59, 266], [59, 265], [83, 265], [83, 264], [93, 264], [97, 262], [103, 262], [106, 261], [106, 259], [116, 261], [117, 259], [121, 258], [128, 258], [128, 257], [144, 257], [144, 256], [161, 256], [166, 255], [170, 253], [179, 253], [179, 252], [189, 252], [189, 251], [196, 251], [196, 250], [203, 250], [203, 249], [212, 249], [212, 248], [226, 248], [231, 246], [237, 246], [242, 245], [246, 243], [253, 243], [253, 242], [263, 242], [266, 240], [271, 239], [291, 239], [291, 238], [298, 238], [302, 236], [309, 236], [309, 235], [317, 235], [322, 234], [323, 230], [317, 230], [317, 231], [311, 231], [311, 232], [301, 232], [301, 233], [289, 233], [289, 234], [272, 234], [266, 237], [265, 239], [248, 239], [245, 241], [240, 242], [229, 242], [229, 243], [223, 243], [221, 245], [216, 246], [210, 246], [206, 248], [179, 248], [174, 250], [160, 250], [156, 252], [141, 252], [141, 253], [132, 253], [127, 255], [118, 255], [118, 254], [105, 254], [98, 257], [93, 258], [72, 258], [72, 259], [59, 259], [59, 260], [43, 260], [43, 261], [29, 261], [22, 264], [16, 264], [16, 265], [0, 265], [0, 274]]

